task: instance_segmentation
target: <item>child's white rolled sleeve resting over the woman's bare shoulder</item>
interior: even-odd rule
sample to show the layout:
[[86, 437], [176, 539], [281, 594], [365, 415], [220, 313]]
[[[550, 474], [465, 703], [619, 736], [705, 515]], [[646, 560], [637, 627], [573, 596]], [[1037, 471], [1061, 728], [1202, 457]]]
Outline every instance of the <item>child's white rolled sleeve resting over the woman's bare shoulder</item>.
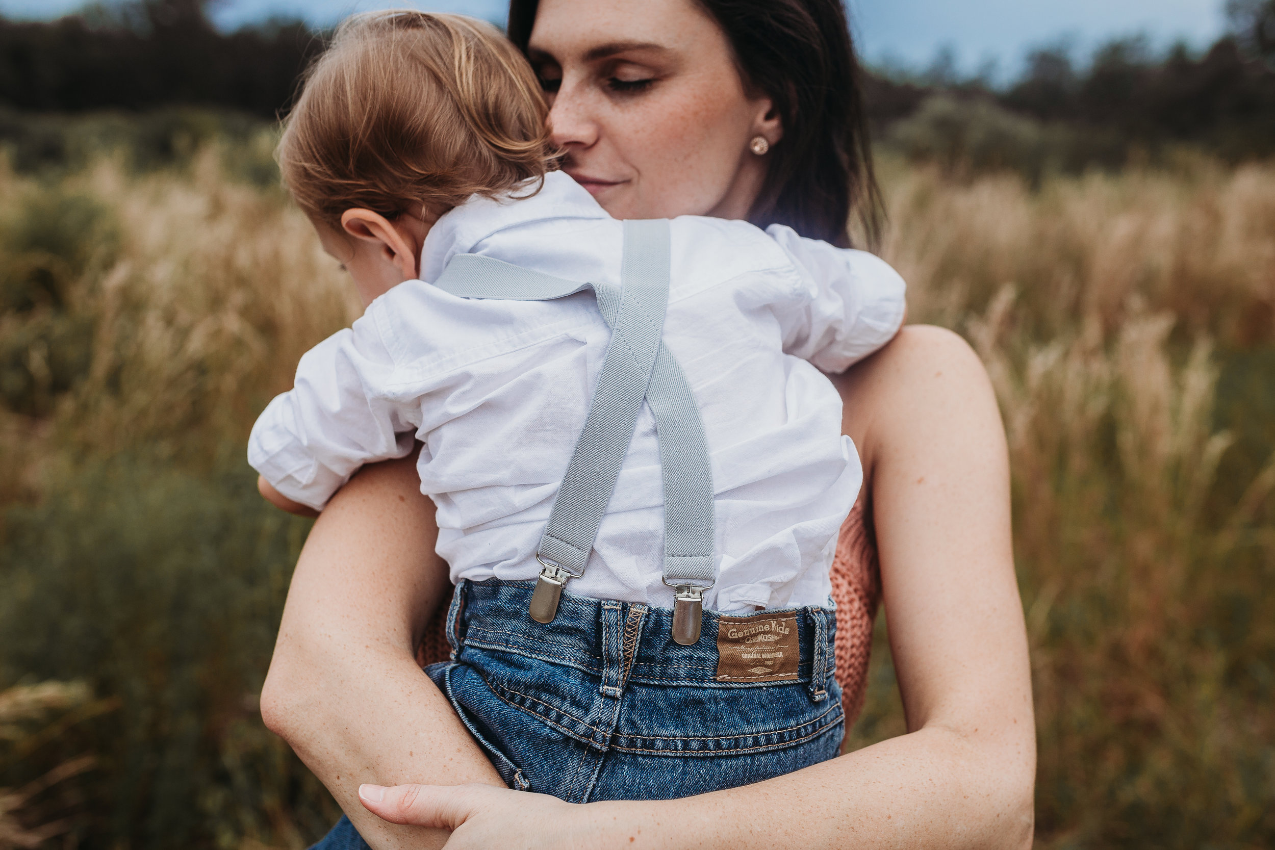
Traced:
[[807, 240], [783, 224], [766, 228], [805, 271], [803, 307], [784, 317], [784, 352], [825, 372], [844, 372], [899, 333], [907, 285], [867, 251]]

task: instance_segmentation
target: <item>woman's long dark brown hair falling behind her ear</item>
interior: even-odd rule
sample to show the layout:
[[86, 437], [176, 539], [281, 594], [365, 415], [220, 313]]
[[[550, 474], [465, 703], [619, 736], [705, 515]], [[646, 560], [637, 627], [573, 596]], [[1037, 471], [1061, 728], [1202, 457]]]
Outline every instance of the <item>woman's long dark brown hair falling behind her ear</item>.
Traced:
[[[692, 0], [717, 20], [743, 82], [783, 120], [748, 220], [849, 245], [857, 214], [870, 243], [881, 228], [862, 70], [841, 0]], [[509, 37], [527, 52], [538, 0], [510, 0]]]

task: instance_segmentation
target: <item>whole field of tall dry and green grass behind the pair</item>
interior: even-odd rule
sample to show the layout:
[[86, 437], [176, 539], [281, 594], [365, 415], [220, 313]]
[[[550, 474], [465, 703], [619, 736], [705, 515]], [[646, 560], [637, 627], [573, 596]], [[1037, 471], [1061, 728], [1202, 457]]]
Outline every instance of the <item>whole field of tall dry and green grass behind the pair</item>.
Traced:
[[[357, 305], [269, 145], [0, 168], [0, 847], [335, 817], [256, 714], [307, 525], [242, 456]], [[1009, 431], [1039, 845], [1275, 845], [1275, 164], [882, 178]], [[881, 626], [856, 747], [903, 731]]]

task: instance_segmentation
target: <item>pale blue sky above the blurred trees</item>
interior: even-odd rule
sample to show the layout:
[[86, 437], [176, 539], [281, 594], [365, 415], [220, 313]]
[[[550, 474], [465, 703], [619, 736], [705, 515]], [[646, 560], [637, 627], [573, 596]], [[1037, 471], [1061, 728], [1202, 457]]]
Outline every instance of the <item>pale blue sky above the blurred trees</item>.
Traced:
[[[1012, 76], [1033, 47], [1070, 43], [1084, 59], [1114, 37], [1145, 33], [1153, 46], [1183, 40], [1207, 47], [1223, 31], [1224, 0], [847, 0], [859, 48], [873, 64], [924, 69], [942, 48], [972, 73], [994, 62], [996, 76]], [[83, 0], [0, 0], [0, 14], [51, 18]], [[235, 28], [272, 14], [302, 17], [316, 25], [351, 11], [412, 5], [462, 11], [502, 22], [504, 0], [219, 0], [214, 18]]]

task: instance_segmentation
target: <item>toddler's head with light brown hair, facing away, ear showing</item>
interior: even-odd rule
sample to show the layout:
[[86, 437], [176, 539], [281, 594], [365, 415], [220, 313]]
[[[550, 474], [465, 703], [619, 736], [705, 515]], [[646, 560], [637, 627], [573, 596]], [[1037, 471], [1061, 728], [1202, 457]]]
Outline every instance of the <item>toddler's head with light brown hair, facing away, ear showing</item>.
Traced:
[[381, 219], [404, 240], [398, 255], [414, 249], [393, 257], [400, 270], [411, 259], [411, 278], [412, 242], [441, 213], [552, 167], [547, 112], [527, 60], [491, 24], [412, 10], [353, 15], [306, 73], [279, 168], [329, 252], [343, 231], [356, 237], [344, 238], [349, 251], [374, 250], [360, 242], [385, 242]]

